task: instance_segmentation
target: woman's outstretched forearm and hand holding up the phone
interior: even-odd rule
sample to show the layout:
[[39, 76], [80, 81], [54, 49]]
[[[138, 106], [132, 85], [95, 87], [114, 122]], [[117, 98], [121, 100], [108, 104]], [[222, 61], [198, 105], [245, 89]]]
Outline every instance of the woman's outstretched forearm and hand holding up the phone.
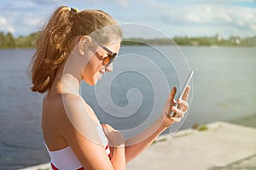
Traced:
[[[135, 158], [143, 150], [146, 150], [150, 144], [156, 139], [160, 133], [170, 127], [174, 122], [179, 122], [187, 111], [189, 104], [187, 103], [189, 97], [189, 87], [183, 95], [183, 99], [178, 99], [178, 108], [173, 107], [175, 105], [174, 96], [176, 94], [176, 88], [172, 88], [172, 92], [166, 101], [166, 105], [163, 114], [148, 127], [143, 133], [137, 134], [137, 136], [127, 139], [125, 141], [125, 161], [126, 163]], [[171, 110], [176, 113], [175, 117], [170, 117]], [[168, 113], [168, 114], [166, 114]]]

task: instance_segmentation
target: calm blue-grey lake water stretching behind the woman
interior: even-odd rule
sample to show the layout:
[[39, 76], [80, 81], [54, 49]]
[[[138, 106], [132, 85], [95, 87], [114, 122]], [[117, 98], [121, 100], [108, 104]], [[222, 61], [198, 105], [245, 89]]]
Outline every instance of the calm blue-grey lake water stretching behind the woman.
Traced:
[[[171, 63], [163, 57], [181, 56], [177, 49], [170, 49], [124, 47], [114, 71], [104, 75], [96, 87], [82, 83], [84, 99], [103, 123], [125, 130], [145, 122], [154, 115], [152, 111], [162, 111], [168, 89], [165, 83], [179, 89], [178, 80], [183, 82], [189, 71], [182, 57], [173, 57]], [[195, 71], [191, 107], [181, 128], [256, 114], [256, 48], [181, 49]], [[44, 96], [30, 92], [26, 76], [32, 53], [32, 49], [0, 50], [0, 169], [49, 161], [40, 127]], [[111, 111], [123, 112], [108, 114]]]

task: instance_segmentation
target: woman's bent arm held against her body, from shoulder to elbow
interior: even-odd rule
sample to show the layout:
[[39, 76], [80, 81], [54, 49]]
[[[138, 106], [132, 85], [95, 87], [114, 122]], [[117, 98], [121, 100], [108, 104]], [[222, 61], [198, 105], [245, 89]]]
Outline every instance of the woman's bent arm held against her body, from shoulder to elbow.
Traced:
[[[113, 153], [110, 161], [97, 133], [98, 122], [92, 118], [89, 105], [78, 96], [67, 94], [63, 97], [65, 112], [61, 124], [61, 135], [73, 149], [84, 169], [113, 170], [125, 169], [125, 148]], [[124, 160], [124, 161], [122, 161]]]

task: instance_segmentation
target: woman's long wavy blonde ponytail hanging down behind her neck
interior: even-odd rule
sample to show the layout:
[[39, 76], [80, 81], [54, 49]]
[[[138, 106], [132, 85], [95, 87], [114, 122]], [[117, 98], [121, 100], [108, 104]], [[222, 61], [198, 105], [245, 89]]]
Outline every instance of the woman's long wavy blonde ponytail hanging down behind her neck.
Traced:
[[72, 29], [71, 18], [69, 8], [57, 8], [40, 32], [36, 42], [37, 51], [32, 57], [33, 92], [44, 93], [53, 82], [57, 69], [67, 58], [65, 43]]

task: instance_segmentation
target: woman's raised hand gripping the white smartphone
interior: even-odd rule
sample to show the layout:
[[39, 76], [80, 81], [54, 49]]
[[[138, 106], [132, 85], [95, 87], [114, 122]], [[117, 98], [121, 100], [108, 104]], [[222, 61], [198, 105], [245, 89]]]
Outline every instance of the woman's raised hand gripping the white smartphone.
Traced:
[[[165, 127], [170, 127], [174, 122], [180, 122], [183, 118], [184, 114], [188, 111], [189, 103], [187, 100], [189, 99], [189, 91], [190, 87], [188, 86], [183, 94], [182, 99], [177, 99], [178, 106], [175, 107], [176, 101], [174, 99], [176, 94], [176, 88], [172, 88], [172, 92], [170, 93], [166, 105], [164, 107], [164, 122], [163, 125]], [[171, 112], [174, 112], [174, 116], [170, 116]]]

